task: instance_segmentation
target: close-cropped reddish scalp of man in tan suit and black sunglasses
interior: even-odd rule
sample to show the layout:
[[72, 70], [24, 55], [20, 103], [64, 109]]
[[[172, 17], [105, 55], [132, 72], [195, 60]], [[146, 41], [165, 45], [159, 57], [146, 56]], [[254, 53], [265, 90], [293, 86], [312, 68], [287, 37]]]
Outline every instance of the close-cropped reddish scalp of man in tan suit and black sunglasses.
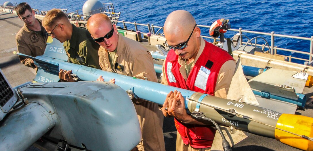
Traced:
[[87, 29], [90, 32], [89, 28], [99, 28], [102, 24], [107, 26], [112, 26], [110, 18], [102, 13], [92, 15], [87, 22]]

